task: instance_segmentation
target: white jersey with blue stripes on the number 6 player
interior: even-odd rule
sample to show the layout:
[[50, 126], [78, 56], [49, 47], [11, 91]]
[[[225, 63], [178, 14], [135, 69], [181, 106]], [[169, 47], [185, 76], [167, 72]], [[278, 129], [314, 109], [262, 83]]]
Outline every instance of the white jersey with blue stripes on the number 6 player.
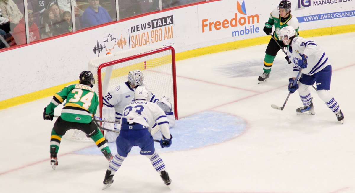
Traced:
[[287, 56], [295, 65], [293, 77], [296, 77], [300, 70], [297, 64], [297, 58], [301, 59], [302, 54], [308, 56], [308, 65], [307, 68], [302, 70], [302, 74], [313, 75], [328, 65], [331, 65], [326, 53], [318, 44], [298, 36], [292, 40], [291, 46], [287, 47]]

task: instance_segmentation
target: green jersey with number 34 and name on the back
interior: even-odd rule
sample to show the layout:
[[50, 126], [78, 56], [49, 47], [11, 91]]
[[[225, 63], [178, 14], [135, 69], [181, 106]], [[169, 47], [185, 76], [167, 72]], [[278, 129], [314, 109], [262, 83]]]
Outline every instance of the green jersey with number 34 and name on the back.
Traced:
[[63, 120], [76, 123], [90, 123], [99, 105], [98, 97], [90, 86], [72, 84], [54, 94], [47, 106], [46, 113], [53, 114], [54, 108], [64, 100], [66, 103], [60, 117]]

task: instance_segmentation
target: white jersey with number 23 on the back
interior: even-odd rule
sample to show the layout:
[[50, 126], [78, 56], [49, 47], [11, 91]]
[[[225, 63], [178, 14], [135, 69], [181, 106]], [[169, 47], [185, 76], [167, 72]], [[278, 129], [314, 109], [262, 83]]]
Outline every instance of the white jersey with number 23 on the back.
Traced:
[[138, 123], [149, 127], [149, 130], [157, 124], [163, 136], [170, 139], [169, 120], [164, 111], [155, 103], [136, 100], [125, 106], [122, 118], [126, 118], [127, 123]]

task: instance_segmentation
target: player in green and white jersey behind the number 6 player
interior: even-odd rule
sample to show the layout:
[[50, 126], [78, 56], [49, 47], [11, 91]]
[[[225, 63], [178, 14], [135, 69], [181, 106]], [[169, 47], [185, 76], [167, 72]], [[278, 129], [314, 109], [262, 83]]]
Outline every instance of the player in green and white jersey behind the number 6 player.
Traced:
[[[274, 26], [275, 30], [272, 35], [275, 40], [271, 38], [267, 45], [264, 58], [264, 72], [258, 78], [258, 81], [260, 81], [259, 83], [264, 82], [269, 78], [276, 54], [281, 49], [280, 46], [286, 47], [281, 39], [279, 39], [279, 34], [280, 29], [289, 25], [292, 26], [295, 29], [296, 34], [298, 34], [299, 22], [295, 16], [291, 15], [291, 2], [288, 0], [282, 0], [279, 3], [278, 8], [270, 13], [269, 21], [265, 23], [263, 29], [267, 35], [270, 35], [272, 33], [272, 26]], [[288, 57], [286, 56], [285, 58], [289, 62]]]

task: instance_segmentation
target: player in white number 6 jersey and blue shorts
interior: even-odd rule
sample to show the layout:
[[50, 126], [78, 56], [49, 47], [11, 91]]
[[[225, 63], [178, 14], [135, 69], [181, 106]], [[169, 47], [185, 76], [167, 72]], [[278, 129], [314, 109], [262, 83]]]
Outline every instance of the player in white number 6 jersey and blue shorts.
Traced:
[[330, 93], [332, 65], [323, 49], [312, 40], [300, 36], [296, 37], [295, 29], [291, 26], [282, 28], [279, 37], [285, 45], [288, 45], [287, 56], [294, 64], [294, 75], [302, 69], [299, 83], [293, 86], [295, 78], [290, 78], [290, 84], [288, 85], [291, 93], [298, 90], [304, 105], [304, 107], [296, 109], [297, 114], [315, 114], [313, 98], [308, 87], [316, 83], [318, 96], [337, 115], [338, 121], [344, 123], [344, 114], [340, 110], [338, 102]]

